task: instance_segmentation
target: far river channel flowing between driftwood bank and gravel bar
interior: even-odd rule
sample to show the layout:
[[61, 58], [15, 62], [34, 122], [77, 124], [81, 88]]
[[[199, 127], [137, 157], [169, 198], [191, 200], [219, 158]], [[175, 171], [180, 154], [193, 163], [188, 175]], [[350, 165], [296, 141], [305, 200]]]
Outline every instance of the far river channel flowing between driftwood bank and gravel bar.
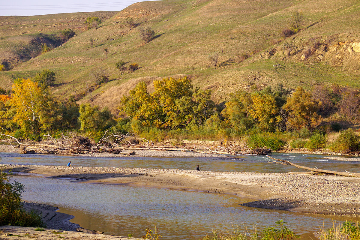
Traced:
[[[307, 167], [318, 167], [333, 171], [355, 171], [360, 169], [360, 161], [344, 162], [325, 158], [327, 155], [274, 153], [274, 158], [287, 159]], [[329, 155], [328, 155], [329, 156]], [[338, 156], [336, 156], [338, 157]], [[136, 168], [165, 168], [165, 169], [195, 169], [196, 165], [204, 171], [216, 172], [269, 172], [281, 173], [291, 171], [305, 171], [292, 166], [268, 163], [271, 160], [261, 155], [241, 155], [229, 158], [169, 158], [169, 157], [120, 157], [95, 158], [83, 156], [59, 156], [49, 154], [18, 154], [0, 153], [3, 164], [33, 164], [66, 166], [71, 161], [74, 166], [86, 167], [136, 167]], [[271, 160], [272, 161], [272, 160]]]

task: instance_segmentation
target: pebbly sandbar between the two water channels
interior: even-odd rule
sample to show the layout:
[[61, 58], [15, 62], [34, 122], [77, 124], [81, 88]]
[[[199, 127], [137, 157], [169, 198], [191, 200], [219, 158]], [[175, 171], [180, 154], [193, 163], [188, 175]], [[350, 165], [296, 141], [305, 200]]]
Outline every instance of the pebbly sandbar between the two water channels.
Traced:
[[360, 215], [360, 179], [286, 173], [177, 169], [0, 165], [13, 172], [104, 184], [228, 193], [254, 199], [250, 207]]

